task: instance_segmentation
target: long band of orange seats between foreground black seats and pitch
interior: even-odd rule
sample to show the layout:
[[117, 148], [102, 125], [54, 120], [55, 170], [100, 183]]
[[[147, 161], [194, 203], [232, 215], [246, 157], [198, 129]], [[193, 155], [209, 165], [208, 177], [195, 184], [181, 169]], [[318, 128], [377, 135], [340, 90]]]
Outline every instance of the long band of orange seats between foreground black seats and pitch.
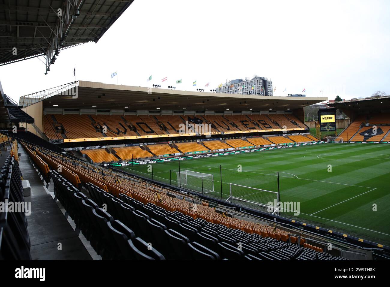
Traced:
[[[140, 201], [151, 202], [172, 212], [180, 211], [193, 218], [201, 218], [212, 223], [221, 223], [230, 228], [246, 230], [247, 232], [262, 234], [277, 239], [281, 239], [279, 234], [287, 235], [287, 232], [283, 230], [277, 230], [274, 234], [271, 226], [255, 225], [252, 222], [237, 218], [222, 217], [221, 214], [216, 213], [213, 208], [208, 207], [207, 203], [198, 205], [197, 211], [193, 212], [192, 210], [189, 210], [188, 202], [168, 196], [167, 193], [172, 193], [171, 190], [161, 189], [161, 187], [156, 187], [155, 185], [143, 182], [142, 180], [136, 181], [133, 178], [123, 177], [121, 173], [115, 173], [97, 166], [88, 165], [85, 162], [69, 160], [62, 154], [50, 153], [50, 155], [45, 155], [40, 153], [40, 156], [44, 158], [51, 167], [57, 168], [58, 165], [61, 165], [61, 174], [70, 178], [75, 186], [79, 186], [80, 181], [84, 184], [92, 182], [94, 185], [99, 186], [101, 189], [115, 196], [119, 193], [129, 193], [132, 197], [137, 198]], [[156, 200], [155, 198], [156, 189], [160, 190], [159, 200]]]

